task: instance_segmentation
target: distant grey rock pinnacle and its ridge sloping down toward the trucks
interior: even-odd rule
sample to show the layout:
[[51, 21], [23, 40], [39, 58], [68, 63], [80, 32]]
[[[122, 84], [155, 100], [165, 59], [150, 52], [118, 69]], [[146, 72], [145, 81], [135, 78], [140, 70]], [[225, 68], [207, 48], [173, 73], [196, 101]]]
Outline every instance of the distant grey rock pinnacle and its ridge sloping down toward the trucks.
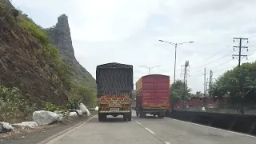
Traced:
[[72, 46], [70, 26], [67, 16], [62, 14], [58, 18], [56, 26], [48, 29], [47, 33], [50, 36], [52, 44], [58, 47], [62, 58], [70, 64], [74, 82], [90, 86], [91, 88], [96, 88], [95, 79], [80, 65], [74, 56], [74, 48]]

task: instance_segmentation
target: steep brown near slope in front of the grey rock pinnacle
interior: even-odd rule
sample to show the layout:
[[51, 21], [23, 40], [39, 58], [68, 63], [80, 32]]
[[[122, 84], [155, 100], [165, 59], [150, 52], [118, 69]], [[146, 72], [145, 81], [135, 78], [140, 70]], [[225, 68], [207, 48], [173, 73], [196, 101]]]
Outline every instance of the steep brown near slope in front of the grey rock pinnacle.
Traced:
[[46, 47], [40, 38], [47, 40], [43, 30], [22, 14], [14, 15], [4, 2], [9, 1], [0, 0], [0, 85], [17, 87], [38, 106], [45, 102], [66, 105], [62, 80], [43, 53]]

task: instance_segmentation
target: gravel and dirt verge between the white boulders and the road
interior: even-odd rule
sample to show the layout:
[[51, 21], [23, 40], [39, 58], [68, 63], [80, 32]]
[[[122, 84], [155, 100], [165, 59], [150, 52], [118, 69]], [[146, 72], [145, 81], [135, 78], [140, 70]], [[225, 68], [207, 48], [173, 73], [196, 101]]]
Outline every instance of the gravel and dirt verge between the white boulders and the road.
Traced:
[[92, 111], [90, 114], [90, 117], [75, 118], [66, 124], [55, 123], [49, 126], [38, 126], [36, 129], [24, 130], [23, 133], [10, 134], [7, 138], [6, 136], [5, 138], [1, 138], [0, 134], [0, 144], [35, 144], [62, 130], [75, 126], [79, 122], [86, 121], [86, 119], [93, 117], [97, 112]]

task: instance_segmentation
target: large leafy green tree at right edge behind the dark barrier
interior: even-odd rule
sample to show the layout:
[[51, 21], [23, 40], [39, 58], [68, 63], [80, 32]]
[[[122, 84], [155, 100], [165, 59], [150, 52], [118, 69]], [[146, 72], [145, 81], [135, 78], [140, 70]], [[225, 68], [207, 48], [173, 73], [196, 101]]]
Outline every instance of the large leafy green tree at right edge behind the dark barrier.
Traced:
[[229, 96], [233, 102], [237, 102], [243, 114], [245, 103], [256, 102], [255, 86], [256, 62], [244, 63], [222, 74], [214, 85], [213, 94], [218, 97]]

